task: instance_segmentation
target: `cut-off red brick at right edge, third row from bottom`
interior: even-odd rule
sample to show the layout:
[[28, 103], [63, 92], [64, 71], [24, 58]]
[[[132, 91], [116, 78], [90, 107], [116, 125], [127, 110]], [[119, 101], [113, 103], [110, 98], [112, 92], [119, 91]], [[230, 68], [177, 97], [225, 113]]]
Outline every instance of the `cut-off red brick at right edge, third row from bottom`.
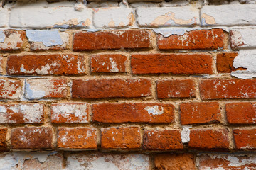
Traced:
[[256, 103], [227, 103], [225, 111], [230, 124], [256, 123]]

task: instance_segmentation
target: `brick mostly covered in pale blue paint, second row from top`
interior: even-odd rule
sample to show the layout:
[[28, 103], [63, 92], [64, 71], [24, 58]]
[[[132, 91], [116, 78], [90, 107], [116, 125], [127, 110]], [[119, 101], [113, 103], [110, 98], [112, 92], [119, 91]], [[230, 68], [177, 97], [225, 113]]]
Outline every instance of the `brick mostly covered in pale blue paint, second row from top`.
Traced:
[[26, 30], [31, 50], [66, 50], [69, 35], [59, 30]]

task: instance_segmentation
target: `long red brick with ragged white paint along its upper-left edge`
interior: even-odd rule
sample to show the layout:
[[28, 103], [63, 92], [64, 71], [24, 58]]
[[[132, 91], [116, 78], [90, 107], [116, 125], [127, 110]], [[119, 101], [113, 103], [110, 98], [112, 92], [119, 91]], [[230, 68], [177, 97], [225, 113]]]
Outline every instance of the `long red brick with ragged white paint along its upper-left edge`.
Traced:
[[222, 29], [191, 30], [183, 35], [157, 36], [159, 50], [217, 50], [224, 46]]

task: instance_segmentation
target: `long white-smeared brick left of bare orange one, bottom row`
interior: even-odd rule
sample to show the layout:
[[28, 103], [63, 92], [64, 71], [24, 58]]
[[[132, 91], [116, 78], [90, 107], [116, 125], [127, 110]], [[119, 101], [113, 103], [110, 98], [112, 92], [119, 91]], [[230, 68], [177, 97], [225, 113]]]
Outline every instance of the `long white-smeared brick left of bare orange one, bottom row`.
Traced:
[[70, 154], [67, 170], [149, 170], [149, 157], [144, 154]]

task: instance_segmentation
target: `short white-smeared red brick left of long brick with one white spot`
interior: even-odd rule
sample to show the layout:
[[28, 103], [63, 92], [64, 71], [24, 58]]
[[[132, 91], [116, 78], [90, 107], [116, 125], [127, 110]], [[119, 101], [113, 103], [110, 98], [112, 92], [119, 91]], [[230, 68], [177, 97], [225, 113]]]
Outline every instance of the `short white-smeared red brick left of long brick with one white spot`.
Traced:
[[89, 103], [55, 103], [50, 107], [52, 123], [88, 123]]

